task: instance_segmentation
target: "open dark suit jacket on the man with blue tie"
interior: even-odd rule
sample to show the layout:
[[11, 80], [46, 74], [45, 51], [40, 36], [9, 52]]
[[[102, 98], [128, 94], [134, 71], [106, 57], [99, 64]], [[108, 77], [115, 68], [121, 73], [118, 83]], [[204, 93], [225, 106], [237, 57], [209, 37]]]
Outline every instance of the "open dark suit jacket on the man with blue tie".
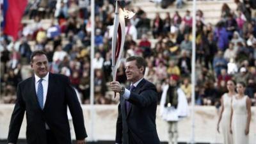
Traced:
[[87, 137], [83, 111], [70, 86], [68, 77], [49, 73], [49, 85], [44, 109], [38, 104], [35, 77], [29, 77], [17, 86], [17, 100], [10, 121], [8, 143], [17, 143], [20, 125], [26, 111], [28, 144], [46, 144], [45, 123], [49, 125], [58, 143], [71, 144], [67, 106], [73, 118], [76, 139]]

